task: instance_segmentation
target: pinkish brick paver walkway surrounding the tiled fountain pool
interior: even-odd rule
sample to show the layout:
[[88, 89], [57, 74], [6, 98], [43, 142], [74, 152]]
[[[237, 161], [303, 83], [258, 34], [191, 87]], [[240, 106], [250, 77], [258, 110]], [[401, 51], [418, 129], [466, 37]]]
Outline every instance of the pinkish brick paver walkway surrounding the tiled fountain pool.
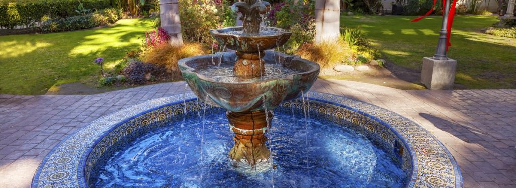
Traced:
[[[0, 95], [0, 187], [28, 187], [44, 156], [89, 122], [184, 89], [176, 82], [86, 96]], [[455, 156], [464, 187], [516, 187], [516, 90], [404, 91], [337, 80], [318, 80], [312, 90], [420, 123]]]

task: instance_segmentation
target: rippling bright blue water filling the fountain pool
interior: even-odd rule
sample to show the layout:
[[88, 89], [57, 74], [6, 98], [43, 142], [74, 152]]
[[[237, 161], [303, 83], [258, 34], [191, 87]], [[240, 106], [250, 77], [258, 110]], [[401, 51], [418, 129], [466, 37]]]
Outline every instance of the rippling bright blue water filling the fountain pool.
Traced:
[[[290, 112], [285, 109], [281, 112]], [[390, 155], [365, 136], [327, 120], [311, 118], [305, 137], [302, 115], [275, 112], [272, 155], [277, 169], [237, 173], [228, 152], [233, 146], [225, 112], [206, 114], [152, 130], [118, 148], [99, 163], [90, 187], [404, 187], [407, 177]], [[306, 138], [308, 138], [307, 170]], [[268, 143], [268, 142], [266, 142]]]

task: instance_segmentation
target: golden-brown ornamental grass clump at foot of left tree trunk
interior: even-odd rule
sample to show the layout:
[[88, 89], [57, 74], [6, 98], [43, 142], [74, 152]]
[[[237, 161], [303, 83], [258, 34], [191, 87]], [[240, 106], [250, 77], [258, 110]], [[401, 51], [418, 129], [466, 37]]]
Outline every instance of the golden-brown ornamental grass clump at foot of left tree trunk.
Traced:
[[185, 42], [183, 45], [164, 43], [149, 50], [144, 61], [165, 67], [172, 72], [179, 72], [178, 61], [180, 59], [204, 54], [206, 54], [206, 50], [198, 42]]

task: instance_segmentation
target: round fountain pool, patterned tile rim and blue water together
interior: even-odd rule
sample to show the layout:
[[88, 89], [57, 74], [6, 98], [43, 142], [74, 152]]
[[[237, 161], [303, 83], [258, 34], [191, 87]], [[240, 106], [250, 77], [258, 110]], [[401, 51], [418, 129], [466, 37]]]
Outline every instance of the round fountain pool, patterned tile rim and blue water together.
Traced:
[[462, 187], [451, 154], [414, 122], [345, 97], [309, 96], [308, 131], [300, 99], [274, 109], [274, 170], [237, 173], [223, 109], [207, 105], [203, 136], [204, 104], [188, 93], [92, 122], [47, 155], [32, 186]]

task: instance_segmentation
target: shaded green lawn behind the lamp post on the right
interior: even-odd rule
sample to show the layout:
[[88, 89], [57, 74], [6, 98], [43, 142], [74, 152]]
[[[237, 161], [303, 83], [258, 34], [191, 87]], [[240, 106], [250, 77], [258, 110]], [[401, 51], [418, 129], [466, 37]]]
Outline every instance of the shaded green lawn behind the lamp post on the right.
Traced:
[[[422, 58], [435, 53], [441, 17], [343, 16], [341, 25], [362, 28], [383, 58], [421, 69]], [[458, 16], [448, 56], [458, 61], [455, 82], [470, 89], [516, 88], [516, 39], [483, 34], [494, 16]]]

